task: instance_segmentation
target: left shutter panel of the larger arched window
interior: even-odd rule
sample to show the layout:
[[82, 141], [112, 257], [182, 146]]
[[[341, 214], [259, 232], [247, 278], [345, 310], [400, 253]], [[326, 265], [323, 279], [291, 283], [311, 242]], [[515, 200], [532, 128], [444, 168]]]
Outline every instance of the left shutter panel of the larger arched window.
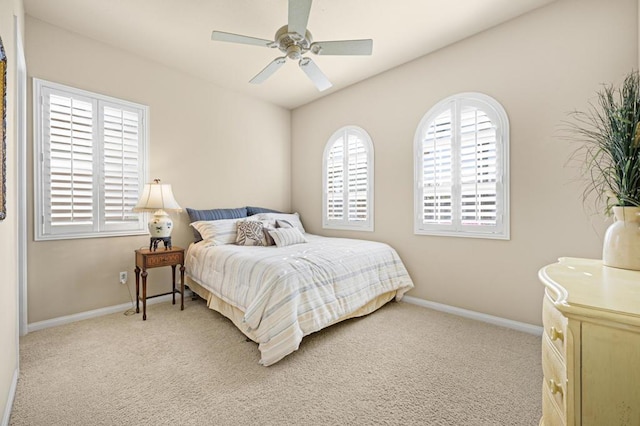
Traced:
[[428, 126], [422, 143], [422, 221], [451, 225], [453, 222], [453, 122], [447, 109]]

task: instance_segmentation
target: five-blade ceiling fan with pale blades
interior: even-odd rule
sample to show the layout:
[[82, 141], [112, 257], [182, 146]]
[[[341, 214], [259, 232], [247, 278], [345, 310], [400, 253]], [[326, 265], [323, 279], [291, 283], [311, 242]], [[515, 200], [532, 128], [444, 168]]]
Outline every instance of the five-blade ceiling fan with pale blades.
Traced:
[[302, 68], [302, 71], [307, 74], [319, 91], [326, 90], [331, 87], [331, 82], [311, 58], [303, 55], [307, 52], [316, 55], [371, 55], [373, 40], [314, 42], [311, 33], [307, 30], [311, 2], [312, 0], [289, 0], [288, 25], [276, 31], [273, 41], [222, 31], [213, 31], [213, 33], [211, 33], [211, 40], [278, 48], [285, 54], [285, 56], [274, 59], [250, 80], [251, 83], [262, 83], [280, 69], [280, 67], [285, 64], [287, 58], [290, 58], [298, 60], [298, 65]]

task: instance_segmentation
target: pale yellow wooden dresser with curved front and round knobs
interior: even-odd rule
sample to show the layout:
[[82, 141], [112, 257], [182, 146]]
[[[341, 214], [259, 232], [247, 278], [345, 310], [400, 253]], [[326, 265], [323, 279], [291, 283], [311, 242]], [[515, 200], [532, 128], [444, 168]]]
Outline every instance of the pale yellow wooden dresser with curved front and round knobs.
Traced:
[[640, 425], [640, 272], [560, 258], [538, 274], [541, 425]]

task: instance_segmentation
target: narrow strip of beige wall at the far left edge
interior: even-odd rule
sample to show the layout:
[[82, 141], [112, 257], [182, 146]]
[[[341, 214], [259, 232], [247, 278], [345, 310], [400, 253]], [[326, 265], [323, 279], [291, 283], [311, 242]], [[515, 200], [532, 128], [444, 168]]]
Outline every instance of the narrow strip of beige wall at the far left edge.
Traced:
[[0, 37], [7, 55], [6, 219], [0, 222], [0, 421], [8, 418], [18, 369], [18, 211], [16, 145], [16, 39], [14, 15], [22, 24], [22, 0], [0, 0]]

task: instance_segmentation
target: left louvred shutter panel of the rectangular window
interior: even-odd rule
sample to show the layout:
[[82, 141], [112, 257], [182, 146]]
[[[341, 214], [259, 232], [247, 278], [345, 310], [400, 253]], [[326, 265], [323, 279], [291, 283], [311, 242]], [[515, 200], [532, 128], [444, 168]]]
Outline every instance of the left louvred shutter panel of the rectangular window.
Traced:
[[95, 103], [49, 93], [43, 109], [48, 155], [45, 227], [52, 233], [93, 230], [96, 221], [94, 193]]

